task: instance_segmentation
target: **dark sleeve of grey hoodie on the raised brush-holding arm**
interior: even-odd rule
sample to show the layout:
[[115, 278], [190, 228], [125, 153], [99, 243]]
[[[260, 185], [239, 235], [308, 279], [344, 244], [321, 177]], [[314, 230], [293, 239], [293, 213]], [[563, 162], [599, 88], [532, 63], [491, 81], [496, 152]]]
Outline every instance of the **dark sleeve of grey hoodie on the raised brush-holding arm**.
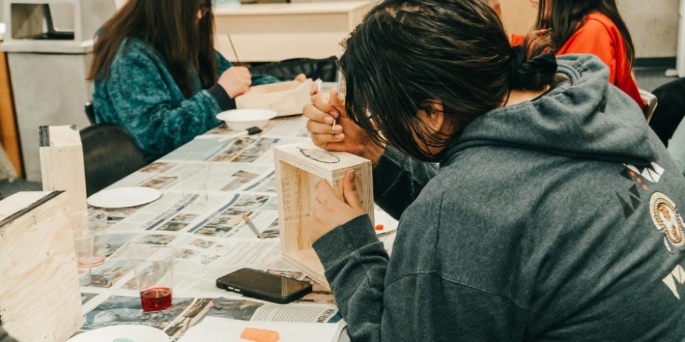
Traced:
[[373, 168], [374, 200], [390, 216], [399, 220], [404, 209], [414, 202], [437, 173], [436, 164], [418, 161], [388, 146]]

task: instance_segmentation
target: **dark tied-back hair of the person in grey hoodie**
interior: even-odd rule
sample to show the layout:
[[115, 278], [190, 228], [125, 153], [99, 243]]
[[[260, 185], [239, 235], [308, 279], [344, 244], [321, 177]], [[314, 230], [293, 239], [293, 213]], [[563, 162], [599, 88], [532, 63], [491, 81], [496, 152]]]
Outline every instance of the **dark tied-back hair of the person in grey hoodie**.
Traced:
[[[555, 81], [553, 56], [552, 67], [529, 62], [521, 68], [526, 56], [512, 49], [482, 0], [386, 0], [343, 45], [351, 120], [375, 143], [427, 161], [441, 157], [430, 147], [446, 146], [459, 129], [503, 105], [510, 89], [542, 90]], [[421, 120], [419, 112], [433, 114], [436, 105], [455, 133], [436, 132]]]

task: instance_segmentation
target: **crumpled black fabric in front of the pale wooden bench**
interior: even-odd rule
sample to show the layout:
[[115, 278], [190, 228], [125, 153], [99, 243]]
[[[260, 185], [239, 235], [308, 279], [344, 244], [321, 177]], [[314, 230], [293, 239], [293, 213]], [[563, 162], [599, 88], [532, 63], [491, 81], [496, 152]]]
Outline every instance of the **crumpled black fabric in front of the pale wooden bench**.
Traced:
[[335, 82], [338, 76], [338, 58], [328, 57], [323, 60], [296, 58], [282, 62], [253, 66], [250, 72], [256, 75], [271, 75], [281, 81], [290, 81], [299, 74], [310, 79], [321, 79], [324, 82]]

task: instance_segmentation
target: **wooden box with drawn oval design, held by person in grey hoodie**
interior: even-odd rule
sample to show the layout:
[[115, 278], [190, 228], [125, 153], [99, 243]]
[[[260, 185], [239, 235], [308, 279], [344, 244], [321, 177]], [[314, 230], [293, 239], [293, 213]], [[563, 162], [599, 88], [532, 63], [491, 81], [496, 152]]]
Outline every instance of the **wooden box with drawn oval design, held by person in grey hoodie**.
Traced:
[[308, 235], [314, 185], [324, 179], [343, 198], [343, 178], [348, 170], [354, 170], [362, 207], [373, 222], [371, 161], [349, 153], [327, 152], [309, 142], [276, 146], [273, 154], [283, 259], [328, 286], [323, 265], [312, 248], [314, 241]]

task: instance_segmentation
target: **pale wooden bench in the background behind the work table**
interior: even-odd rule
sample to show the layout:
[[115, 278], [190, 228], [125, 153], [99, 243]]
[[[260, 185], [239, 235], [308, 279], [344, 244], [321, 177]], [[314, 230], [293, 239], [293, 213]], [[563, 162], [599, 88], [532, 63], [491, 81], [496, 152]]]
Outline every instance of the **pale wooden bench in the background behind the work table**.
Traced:
[[[369, 1], [240, 5], [214, 11], [216, 49], [231, 62], [340, 56]], [[238, 57], [227, 36], [230, 35]]]

